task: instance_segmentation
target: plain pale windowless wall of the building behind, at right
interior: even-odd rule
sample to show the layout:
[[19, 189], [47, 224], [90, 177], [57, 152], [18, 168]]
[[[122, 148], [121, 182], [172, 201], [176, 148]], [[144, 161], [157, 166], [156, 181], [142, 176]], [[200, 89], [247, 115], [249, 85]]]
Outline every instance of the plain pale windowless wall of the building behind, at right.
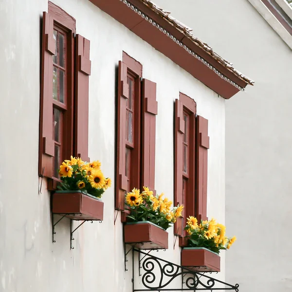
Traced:
[[226, 102], [226, 281], [290, 291], [292, 51], [248, 0], [156, 2], [256, 81]]

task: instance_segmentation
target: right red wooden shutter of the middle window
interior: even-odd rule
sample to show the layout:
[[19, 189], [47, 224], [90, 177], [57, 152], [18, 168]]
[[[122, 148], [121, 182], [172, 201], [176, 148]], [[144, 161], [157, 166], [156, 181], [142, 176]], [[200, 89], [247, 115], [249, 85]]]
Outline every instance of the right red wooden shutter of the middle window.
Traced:
[[155, 191], [156, 83], [142, 83], [142, 186]]

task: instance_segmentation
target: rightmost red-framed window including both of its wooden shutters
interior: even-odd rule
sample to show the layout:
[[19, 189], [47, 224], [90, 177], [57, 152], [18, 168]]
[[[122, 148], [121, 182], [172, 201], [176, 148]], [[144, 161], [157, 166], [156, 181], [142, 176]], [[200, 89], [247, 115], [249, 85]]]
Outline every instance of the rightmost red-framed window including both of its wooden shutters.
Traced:
[[175, 204], [183, 204], [183, 217], [175, 224], [180, 245], [186, 218], [206, 219], [208, 121], [196, 115], [196, 103], [180, 93], [175, 101]]

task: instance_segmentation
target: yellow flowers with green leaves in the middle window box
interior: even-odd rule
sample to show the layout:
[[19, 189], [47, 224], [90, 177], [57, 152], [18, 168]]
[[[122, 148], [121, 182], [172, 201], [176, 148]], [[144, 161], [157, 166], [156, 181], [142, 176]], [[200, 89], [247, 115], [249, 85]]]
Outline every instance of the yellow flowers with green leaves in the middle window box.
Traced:
[[148, 187], [144, 186], [143, 189], [140, 193], [139, 189], [134, 188], [126, 195], [130, 210], [130, 215], [127, 216], [129, 222], [149, 221], [166, 230], [182, 216], [182, 205], [171, 208], [172, 201], [163, 199], [164, 193], [153, 196]]

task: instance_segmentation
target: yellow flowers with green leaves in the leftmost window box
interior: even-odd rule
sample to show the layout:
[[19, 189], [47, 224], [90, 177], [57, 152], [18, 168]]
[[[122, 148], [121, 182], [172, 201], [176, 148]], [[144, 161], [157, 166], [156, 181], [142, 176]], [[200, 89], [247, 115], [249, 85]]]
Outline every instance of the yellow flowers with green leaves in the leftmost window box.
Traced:
[[105, 178], [101, 169], [101, 163], [96, 160], [84, 162], [81, 158], [71, 156], [71, 160], [65, 160], [59, 169], [62, 183], [58, 189], [62, 191], [80, 190], [84, 194], [101, 198], [105, 190], [110, 187], [110, 178]]

